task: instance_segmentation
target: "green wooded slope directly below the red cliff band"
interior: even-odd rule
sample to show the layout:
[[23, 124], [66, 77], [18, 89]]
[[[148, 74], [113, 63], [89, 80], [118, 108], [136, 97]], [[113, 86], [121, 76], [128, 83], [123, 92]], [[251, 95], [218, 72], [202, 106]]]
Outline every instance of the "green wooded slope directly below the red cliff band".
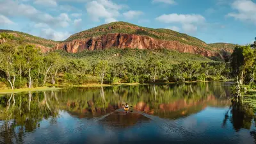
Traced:
[[79, 53], [67, 53], [59, 51], [64, 56], [72, 58], [85, 58], [90, 61], [108, 60], [108, 61], [123, 61], [127, 58], [132, 58], [135, 61], [147, 60], [150, 57], [163, 59], [168, 63], [177, 64], [184, 61], [199, 61], [212, 62], [209, 58], [201, 56], [200, 54], [182, 53], [171, 51], [168, 49], [159, 50], [141, 50], [141, 49], [105, 49], [102, 51], [83, 51]]

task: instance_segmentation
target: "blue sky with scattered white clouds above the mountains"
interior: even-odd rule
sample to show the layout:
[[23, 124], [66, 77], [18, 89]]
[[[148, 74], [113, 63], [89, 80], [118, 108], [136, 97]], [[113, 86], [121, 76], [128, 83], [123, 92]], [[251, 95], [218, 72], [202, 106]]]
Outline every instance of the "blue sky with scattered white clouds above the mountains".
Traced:
[[0, 0], [0, 29], [53, 40], [113, 21], [173, 29], [207, 43], [250, 44], [256, 36], [256, 1]]

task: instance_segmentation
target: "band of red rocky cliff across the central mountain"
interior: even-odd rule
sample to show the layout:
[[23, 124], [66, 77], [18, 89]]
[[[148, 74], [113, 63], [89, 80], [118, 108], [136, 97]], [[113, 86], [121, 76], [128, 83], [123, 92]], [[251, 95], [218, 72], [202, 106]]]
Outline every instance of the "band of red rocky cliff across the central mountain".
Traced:
[[138, 49], [170, 49], [179, 52], [189, 52], [192, 54], [201, 54], [202, 56], [212, 57], [219, 56], [219, 52], [211, 51], [203, 47], [196, 47], [189, 44], [184, 44], [178, 41], [167, 41], [151, 38], [149, 36], [109, 33], [107, 35], [81, 38], [71, 42], [63, 42], [57, 44], [54, 50], [63, 49], [67, 52], [82, 52], [86, 50], [102, 50], [111, 47], [138, 48]]

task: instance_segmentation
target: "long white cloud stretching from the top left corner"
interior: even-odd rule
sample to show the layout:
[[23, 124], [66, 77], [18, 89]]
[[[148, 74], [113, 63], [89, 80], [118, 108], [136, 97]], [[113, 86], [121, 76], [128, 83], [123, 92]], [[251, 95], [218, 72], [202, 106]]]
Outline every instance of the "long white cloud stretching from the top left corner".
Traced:
[[0, 13], [4, 16], [25, 17], [36, 23], [44, 23], [54, 27], [69, 26], [70, 19], [67, 13], [61, 13], [53, 17], [48, 13], [40, 12], [33, 6], [18, 3], [17, 1], [2, 0], [0, 1]]

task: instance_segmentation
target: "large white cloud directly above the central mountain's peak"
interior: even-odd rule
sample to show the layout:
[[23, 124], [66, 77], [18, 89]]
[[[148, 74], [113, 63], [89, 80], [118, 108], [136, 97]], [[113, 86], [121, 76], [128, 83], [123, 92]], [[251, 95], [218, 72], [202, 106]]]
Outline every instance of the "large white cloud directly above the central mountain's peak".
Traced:
[[118, 11], [121, 8], [122, 5], [115, 4], [110, 0], [95, 0], [86, 5], [88, 15], [95, 21], [100, 19], [105, 19], [105, 21], [114, 20], [120, 15]]

